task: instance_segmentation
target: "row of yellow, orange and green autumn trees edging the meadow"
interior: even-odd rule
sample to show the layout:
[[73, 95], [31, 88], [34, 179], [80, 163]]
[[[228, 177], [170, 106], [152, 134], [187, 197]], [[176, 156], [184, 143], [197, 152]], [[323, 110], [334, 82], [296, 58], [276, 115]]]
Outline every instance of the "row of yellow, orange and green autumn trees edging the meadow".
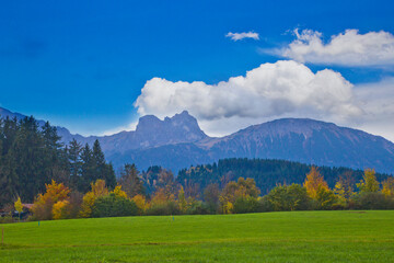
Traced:
[[[312, 167], [302, 184], [279, 184], [263, 196], [254, 179], [239, 178], [237, 181], [228, 182], [223, 188], [218, 184], [207, 185], [200, 199], [186, 194], [174, 180], [166, 181], [169, 174], [171, 172], [166, 170], [159, 173], [151, 195], [146, 192], [142, 174], [132, 164], [125, 165], [114, 188], [107, 187], [105, 180], [99, 179], [91, 183], [85, 194], [53, 180], [46, 184], [45, 193], [37, 195], [32, 207], [33, 216], [28, 219], [394, 209], [394, 178], [380, 183], [373, 170], [366, 170], [358, 183], [355, 183], [351, 173], [344, 173], [331, 188], [317, 168]], [[21, 209], [20, 198], [14, 207]]]

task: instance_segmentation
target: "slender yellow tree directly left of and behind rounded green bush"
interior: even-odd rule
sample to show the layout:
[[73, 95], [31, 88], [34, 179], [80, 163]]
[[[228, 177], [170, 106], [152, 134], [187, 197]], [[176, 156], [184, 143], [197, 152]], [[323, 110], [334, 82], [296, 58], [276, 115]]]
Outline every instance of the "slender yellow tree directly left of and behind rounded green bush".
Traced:
[[91, 183], [92, 190], [88, 192], [82, 199], [80, 217], [90, 217], [92, 215], [92, 208], [94, 202], [108, 194], [108, 188], [105, 186], [105, 181], [99, 179], [94, 183]]

